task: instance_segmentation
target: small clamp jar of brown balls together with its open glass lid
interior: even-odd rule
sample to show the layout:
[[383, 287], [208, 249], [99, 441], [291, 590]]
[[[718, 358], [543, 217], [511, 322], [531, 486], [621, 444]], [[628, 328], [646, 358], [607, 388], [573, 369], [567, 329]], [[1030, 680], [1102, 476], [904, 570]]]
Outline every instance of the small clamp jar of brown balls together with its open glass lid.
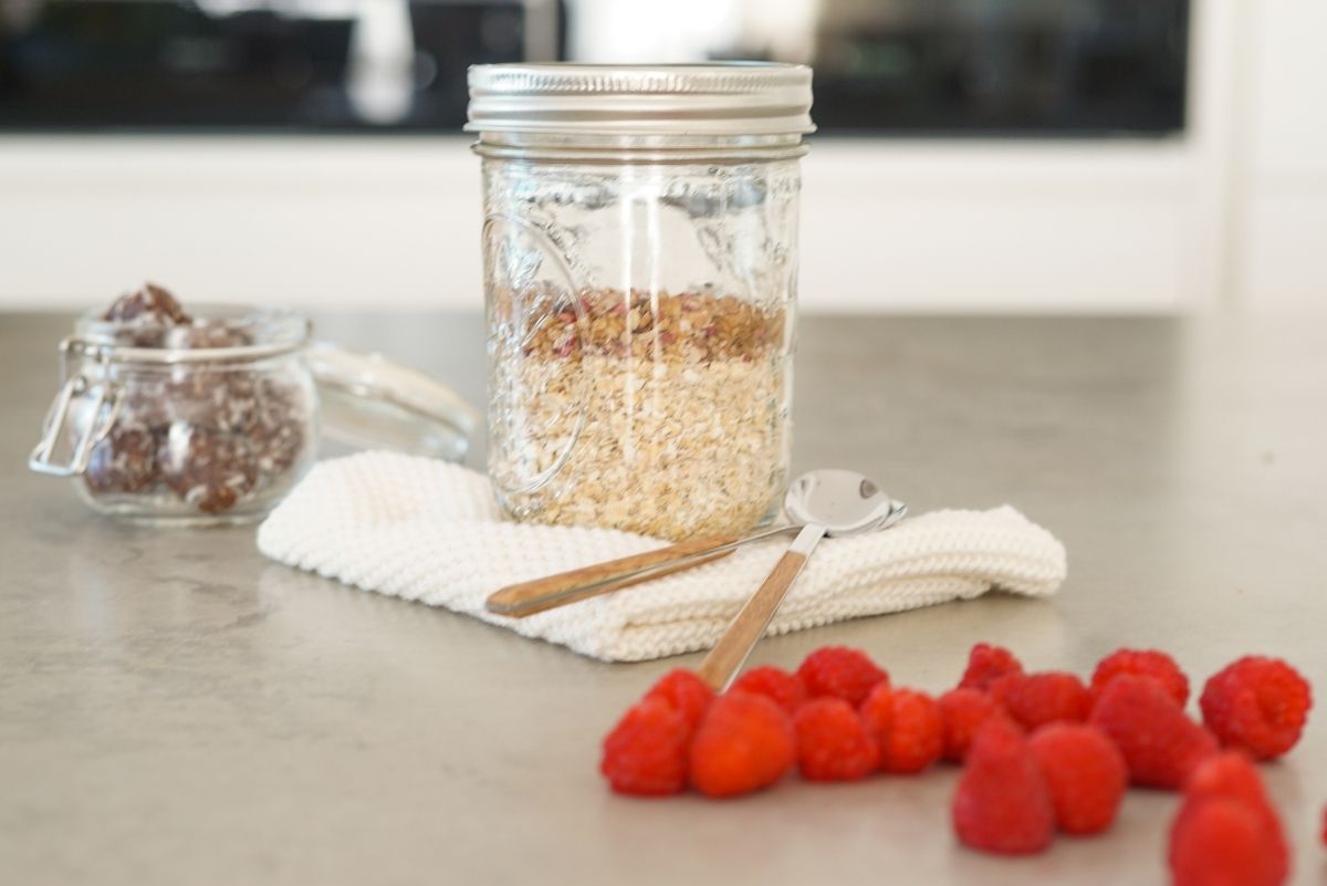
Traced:
[[[135, 306], [137, 305], [137, 306]], [[317, 458], [320, 427], [364, 448], [460, 460], [479, 423], [449, 387], [378, 354], [313, 344], [303, 316], [186, 314], [159, 286], [88, 312], [28, 467], [146, 523], [261, 517]]]

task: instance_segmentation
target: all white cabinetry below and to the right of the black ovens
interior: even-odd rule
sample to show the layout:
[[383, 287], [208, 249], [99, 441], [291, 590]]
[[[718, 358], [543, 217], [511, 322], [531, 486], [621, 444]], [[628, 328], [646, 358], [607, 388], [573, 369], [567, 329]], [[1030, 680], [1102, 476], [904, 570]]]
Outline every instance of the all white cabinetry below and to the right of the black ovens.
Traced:
[[[1182, 139], [816, 139], [805, 309], [1315, 300], [1324, 19], [1320, 0], [1196, 0]], [[150, 277], [194, 301], [478, 308], [478, 229], [462, 137], [0, 141], [0, 305], [96, 304]]]

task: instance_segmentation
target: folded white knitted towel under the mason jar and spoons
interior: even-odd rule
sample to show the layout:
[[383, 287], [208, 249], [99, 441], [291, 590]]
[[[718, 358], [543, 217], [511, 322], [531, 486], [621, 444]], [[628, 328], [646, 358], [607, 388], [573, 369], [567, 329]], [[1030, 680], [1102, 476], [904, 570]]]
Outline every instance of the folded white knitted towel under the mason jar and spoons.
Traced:
[[[504, 585], [662, 544], [613, 529], [511, 523], [482, 474], [393, 452], [320, 463], [257, 532], [259, 549], [291, 566], [609, 662], [713, 646], [788, 540], [527, 618], [484, 610]], [[1064, 572], [1064, 546], [1011, 507], [934, 511], [884, 532], [825, 538], [768, 634], [967, 600], [991, 588], [1046, 597]]]

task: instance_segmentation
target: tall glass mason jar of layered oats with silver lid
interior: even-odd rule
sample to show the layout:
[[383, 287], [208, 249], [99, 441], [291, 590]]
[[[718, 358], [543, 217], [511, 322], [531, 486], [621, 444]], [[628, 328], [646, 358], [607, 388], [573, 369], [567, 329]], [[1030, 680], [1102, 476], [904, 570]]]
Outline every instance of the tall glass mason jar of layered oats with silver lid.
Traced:
[[486, 65], [488, 471], [518, 520], [671, 540], [778, 512], [800, 65]]

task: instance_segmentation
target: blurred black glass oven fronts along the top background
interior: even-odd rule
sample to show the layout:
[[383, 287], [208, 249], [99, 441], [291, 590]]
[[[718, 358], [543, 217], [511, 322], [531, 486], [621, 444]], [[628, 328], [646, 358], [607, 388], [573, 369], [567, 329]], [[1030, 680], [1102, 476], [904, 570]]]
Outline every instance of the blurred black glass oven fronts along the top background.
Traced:
[[[813, 57], [780, 60], [815, 65], [823, 133], [1184, 129], [1188, 0], [878, 0], [876, 8], [878, 20], [857, 8], [851, 24], [827, 12]], [[413, 48], [390, 68], [409, 101], [384, 117], [365, 114], [348, 88], [352, 16], [292, 15], [261, 0], [230, 15], [188, 0], [0, 0], [0, 9], [8, 12], [0, 131], [453, 133], [464, 122], [466, 68], [520, 61], [527, 28], [536, 27], [519, 3], [413, 0]], [[553, 29], [539, 36], [559, 58], [568, 57], [575, 16], [575, 0], [563, 0], [537, 24]], [[742, 42], [703, 56], [770, 54]]]

